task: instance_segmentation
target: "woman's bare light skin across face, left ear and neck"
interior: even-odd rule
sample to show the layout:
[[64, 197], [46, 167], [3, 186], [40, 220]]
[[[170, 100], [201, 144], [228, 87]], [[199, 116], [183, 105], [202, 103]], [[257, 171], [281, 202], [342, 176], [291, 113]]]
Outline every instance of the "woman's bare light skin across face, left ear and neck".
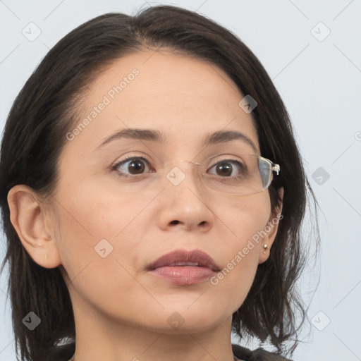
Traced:
[[[140, 71], [135, 80], [66, 141], [50, 202], [26, 185], [11, 189], [11, 222], [37, 264], [63, 271], [75, 314], [76, 361], [231, 361], [232, 314], [269, 257], [277, 225], [216, 286], [209, 280], [177, 285], [146, 266], [172, 250], [197, 249], [223, 269], [274, 219], [268, 190], [220, 195], [200, 186], [185, 162], [202, 162], [221, 149], [255, 153], [240, 140], [204, 148], [204, 135], [216, 130], [242, 132], [260, 154], [252, 114], [238, 106], [244, 95], [220, 68], [161, 49], [118, 59], [102, 73], [90, 85], [80, 120], [133, 68]], [[95, 149], [125, 128], [159, 130], [166, 142], [121, 139]], [[164, 175], [178, 166], [185, 179], [173, 185], [163, 176], [153, 188], [127, 181], [111, 166], [130, 155], [146, 157]], [[102, 239], [113, 247], [104, 258], [94, 251]], [[183, 324], [175, 329], [169, 317]]]

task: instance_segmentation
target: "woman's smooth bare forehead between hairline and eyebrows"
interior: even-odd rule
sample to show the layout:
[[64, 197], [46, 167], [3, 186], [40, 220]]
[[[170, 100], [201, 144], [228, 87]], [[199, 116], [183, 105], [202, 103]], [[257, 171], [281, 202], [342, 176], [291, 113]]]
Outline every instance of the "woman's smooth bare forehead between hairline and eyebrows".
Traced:
[[239, 106], [243, 97], [212, 63], [164, 49], [140, 51], [114, 61], [89, 86], [80, 117], [89, 121], [76, 141], [100, 144], [121, 128], [157, 128], [183, 142], [240, 130], [259, 148], [252, 116]]

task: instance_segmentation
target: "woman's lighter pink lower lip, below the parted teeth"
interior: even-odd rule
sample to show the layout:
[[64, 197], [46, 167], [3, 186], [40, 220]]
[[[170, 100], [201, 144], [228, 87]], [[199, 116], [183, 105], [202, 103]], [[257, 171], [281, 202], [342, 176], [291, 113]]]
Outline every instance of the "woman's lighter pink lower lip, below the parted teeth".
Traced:
[[149, 271], [149, 274], [178, 285], [193, 285], [209, 279], [216, 272], [208, 267], [166, 266]]

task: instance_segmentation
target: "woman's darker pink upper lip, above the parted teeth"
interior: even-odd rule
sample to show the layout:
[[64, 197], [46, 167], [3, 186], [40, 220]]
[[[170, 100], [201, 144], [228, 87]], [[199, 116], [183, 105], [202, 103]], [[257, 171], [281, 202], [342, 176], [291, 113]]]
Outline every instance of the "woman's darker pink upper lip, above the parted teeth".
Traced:
[[152, 270], [159, 267], [176, 266], [177, 263], [183, 263], [178, 264], [179, 266], [200, 266], [208, 267], [213, 271], [220, 271], [220, 268], [216, 262], [214, 262], [214, 259], [201, 250], [175, 250], [173, 252], [166, 253], [152, 264], [149, 264], [148, 269]]

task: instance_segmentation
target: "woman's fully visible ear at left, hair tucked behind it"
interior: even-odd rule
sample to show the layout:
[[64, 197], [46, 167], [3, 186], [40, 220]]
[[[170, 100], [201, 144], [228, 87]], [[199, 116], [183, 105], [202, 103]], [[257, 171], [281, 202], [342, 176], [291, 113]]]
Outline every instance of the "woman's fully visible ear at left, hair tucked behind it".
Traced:
[[23, 247], [32, 259], [45, 268], [58, 267], [60, 255], [51, 237], [47, 214], [36, 192], [27, 185], [16, 185], [8, 192], [10, 221]]

